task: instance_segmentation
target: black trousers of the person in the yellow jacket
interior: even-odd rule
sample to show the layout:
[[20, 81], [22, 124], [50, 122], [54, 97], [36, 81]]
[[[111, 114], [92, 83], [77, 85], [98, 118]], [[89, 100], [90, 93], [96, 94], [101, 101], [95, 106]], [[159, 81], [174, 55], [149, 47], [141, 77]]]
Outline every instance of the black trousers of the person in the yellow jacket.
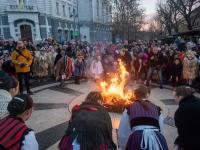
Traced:
[[29, 87], [29, 76], [30, 76], [30, 72], [26, 72], [26, 73], [17, 73], [17, 77], [19, 80], [19, 91], [20, 93], [23, 93], [24, 87], [23, 87], [23, 80], [25, 81], [25, 86], [26, 86], [26, 90], [29, 93], [30, 92], [30, 87]]

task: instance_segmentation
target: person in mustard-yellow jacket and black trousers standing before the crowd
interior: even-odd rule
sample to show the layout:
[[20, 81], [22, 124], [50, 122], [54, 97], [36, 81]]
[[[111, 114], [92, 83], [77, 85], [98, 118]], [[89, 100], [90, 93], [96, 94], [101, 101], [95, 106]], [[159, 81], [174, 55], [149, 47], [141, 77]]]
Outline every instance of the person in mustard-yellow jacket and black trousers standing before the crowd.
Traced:
[[17, 42], [17, 48], [12, 52], [11, 57], [19, 80], [20, 94], [23, 94], [23, 80], [25, 80], [27, 93], [32, 95], [29, 86], [29, 74], [33, 57], [30, 51], [25, 48], [23, 41]]

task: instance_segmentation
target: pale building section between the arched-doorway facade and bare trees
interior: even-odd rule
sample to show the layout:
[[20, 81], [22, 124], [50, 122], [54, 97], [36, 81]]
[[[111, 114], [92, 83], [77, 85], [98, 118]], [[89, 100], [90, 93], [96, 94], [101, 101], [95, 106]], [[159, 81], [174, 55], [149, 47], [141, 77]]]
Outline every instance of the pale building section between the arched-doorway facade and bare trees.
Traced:
[[78, 14], [82, 41], [112, 41], [109, 0], [78, 0]]

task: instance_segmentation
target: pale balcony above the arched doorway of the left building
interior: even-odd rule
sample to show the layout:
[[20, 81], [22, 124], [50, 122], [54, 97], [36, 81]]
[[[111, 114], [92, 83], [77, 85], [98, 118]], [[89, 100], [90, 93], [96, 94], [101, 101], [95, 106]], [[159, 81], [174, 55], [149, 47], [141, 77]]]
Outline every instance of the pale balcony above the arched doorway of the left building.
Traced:
[[8, 12], [38, 12], [38, 8], [36, 6], [23, 6], [20, 7], [19, 5], [8, 5], [6, 8]]

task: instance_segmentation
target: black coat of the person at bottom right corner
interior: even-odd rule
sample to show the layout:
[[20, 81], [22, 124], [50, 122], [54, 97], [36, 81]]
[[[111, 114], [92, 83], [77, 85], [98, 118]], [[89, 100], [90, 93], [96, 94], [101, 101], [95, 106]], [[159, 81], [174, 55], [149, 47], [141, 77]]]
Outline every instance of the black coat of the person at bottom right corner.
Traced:
[[191, 95], [181, 100], [175, 112], [178, 137], [175, 141], [183, 150], [200, 150], [200, 99]]

